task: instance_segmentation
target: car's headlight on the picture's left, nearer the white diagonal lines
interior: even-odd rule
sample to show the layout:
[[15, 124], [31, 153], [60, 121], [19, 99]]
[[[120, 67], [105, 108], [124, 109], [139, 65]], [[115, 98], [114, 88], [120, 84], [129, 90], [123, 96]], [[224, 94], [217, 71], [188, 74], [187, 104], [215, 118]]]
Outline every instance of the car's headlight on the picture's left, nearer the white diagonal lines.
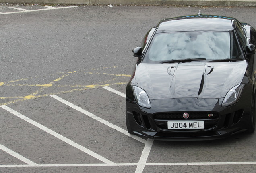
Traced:
[[133, 95], [137, 104], [145, 108], [150, 108], [151, 104], [150, 104], [147, 93], [143, 89], [137, 86], [132, 86], [132, 89], [133, 89]]

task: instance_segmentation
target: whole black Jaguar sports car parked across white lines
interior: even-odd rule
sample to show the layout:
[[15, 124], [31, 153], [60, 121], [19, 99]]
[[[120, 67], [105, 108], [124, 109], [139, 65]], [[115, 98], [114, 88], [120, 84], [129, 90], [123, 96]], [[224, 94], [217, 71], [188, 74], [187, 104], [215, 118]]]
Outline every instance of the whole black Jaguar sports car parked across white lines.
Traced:
[[255, 129], [256, 30], [198, 14], [149, 30], [126, 87], [131, 134], [209, 140]]

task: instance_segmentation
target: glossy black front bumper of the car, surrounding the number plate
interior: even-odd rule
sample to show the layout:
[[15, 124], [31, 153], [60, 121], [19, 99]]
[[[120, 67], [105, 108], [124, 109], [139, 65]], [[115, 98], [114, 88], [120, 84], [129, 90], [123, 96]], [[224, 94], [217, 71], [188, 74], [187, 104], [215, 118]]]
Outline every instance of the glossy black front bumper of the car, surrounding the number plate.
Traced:
[[[130, 131], [157, 140], [210, 140], [246, 131], [250, 120], [252, 85], [245, 85], [234, 105], [222, 107], [221, 99], [177, 98], [150, 100], [151, 108], [126, 99], [126, 121]], [[182, 117], [189, 113], [188, 119]], [[208, 117], [206, 115], [213, 114]], [[204, 121], [204, 129], [167, 129], [168, 121]]]

